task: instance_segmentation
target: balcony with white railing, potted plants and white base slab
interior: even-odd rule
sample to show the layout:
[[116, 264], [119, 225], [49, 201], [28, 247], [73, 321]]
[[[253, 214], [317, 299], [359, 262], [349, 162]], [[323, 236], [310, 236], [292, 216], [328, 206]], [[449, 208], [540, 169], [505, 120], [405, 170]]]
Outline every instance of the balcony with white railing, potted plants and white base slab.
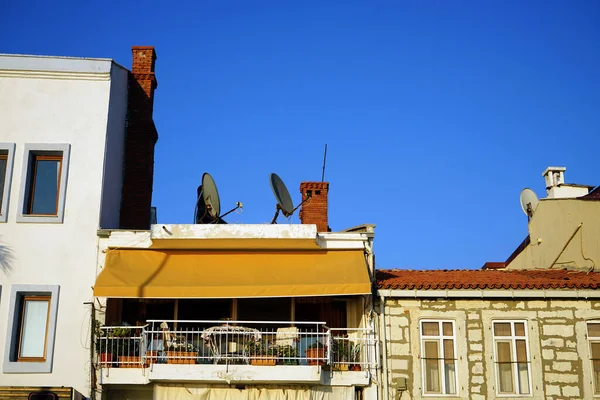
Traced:
[[96, 335], [102, 384], [152, 381], [367, 385], [369, 329], [323, 322], [149, 320]]

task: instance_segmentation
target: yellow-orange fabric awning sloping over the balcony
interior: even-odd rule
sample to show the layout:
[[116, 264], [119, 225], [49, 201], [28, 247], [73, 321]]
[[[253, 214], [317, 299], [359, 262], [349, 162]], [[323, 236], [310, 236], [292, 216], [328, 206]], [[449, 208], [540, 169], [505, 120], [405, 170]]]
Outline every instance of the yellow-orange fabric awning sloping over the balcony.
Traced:
[[94, 295], [137, 298], [369, 294], [362, 250], [108, 250]]

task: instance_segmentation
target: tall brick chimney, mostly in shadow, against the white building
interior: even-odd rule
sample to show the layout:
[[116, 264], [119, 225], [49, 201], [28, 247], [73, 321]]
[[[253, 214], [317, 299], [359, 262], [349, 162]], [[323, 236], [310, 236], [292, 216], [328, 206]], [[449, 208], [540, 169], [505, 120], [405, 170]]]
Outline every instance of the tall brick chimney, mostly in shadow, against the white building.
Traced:
[[152, 46], [134, 46], [127, 98], [127, 132], [121, 193], [122, 229], [149, 229], [154, 178], [154, 145], [158, 133], [152, 119], [156, 52]]

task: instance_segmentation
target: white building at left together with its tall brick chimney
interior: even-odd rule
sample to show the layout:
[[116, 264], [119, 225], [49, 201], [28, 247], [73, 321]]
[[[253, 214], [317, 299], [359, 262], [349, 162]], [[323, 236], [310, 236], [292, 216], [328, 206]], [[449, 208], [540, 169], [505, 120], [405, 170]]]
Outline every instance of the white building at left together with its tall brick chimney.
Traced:
[[96, 232], [150, 225], [156, 56], [133, 55], [0, 55], [0, 398], [91, 394]]

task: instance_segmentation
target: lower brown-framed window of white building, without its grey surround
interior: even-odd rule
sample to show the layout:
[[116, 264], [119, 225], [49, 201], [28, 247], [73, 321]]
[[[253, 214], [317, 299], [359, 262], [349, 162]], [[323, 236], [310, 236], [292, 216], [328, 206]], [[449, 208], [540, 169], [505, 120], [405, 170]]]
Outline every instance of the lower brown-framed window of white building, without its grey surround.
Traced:
[[46, 360], [50, 296], [25, 296], [20, 304], [18, 361]]

